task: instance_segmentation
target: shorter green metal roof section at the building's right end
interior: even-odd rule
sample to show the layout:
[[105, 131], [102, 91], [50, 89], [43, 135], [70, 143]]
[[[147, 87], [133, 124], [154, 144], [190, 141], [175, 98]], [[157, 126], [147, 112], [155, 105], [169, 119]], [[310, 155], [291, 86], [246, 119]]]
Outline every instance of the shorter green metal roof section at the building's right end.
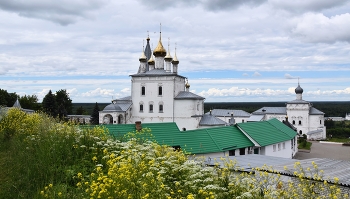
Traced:
[[295, 131], [275, 118], [262, 122], [238, 123], [237, 126], [260, 146], [291, 140], [296, 135]]

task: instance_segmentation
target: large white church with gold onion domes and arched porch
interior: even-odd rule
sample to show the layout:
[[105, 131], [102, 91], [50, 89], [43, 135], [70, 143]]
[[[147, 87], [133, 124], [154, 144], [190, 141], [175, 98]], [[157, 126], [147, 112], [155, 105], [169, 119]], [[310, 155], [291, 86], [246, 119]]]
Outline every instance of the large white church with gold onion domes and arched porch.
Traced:
[[163, 47], [162, 36], [152, 50], [150, 38], [131, 77], [131, 96], [113, 100], [99, 112], [100, 124], [176, 122], [181, 130], [199, 128], [205, 98], [191, 93], [186, 77], [178, 74], [179, 60]]

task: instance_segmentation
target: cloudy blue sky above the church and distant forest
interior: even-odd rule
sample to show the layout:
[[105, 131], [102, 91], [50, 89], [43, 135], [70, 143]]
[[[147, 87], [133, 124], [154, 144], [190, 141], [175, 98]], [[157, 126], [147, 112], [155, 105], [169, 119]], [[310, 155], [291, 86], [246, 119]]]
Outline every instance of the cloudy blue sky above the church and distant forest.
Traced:
[[[350, 1], [0, 2], [0, 88], [66, 89], [73, 102], [130, 95], [143, 40], [175, 43], [179, 74], [206, 102], [350, 99]], [[147, 32], [149, 31], [149, 32]]]

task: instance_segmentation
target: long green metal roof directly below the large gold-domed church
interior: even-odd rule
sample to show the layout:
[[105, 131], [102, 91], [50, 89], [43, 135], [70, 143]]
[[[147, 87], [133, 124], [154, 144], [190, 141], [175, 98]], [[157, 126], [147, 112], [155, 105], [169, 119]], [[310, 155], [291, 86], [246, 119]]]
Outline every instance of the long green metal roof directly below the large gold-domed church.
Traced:
[[[135, 131], [134, 124], [104, 126], [117, 138]], [[254, 146], [235, 126], [180, 131], [176, 123], [143, 123], [142, 128], [150, 128], [153, 138], [159, 144], [180, 146], [182, 150], [191, 154], [215, 153]]]

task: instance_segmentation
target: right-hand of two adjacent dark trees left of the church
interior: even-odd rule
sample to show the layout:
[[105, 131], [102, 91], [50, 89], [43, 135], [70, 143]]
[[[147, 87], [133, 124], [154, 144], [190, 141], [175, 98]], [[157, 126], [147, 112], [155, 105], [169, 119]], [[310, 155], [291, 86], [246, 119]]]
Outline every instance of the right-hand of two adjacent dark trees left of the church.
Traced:
[[66, 117], [72, 114], [72, 100], [69, 98], [69, 94], [65, 89], [61, 89], [56, 92], [57, 113], [60, 118]]

